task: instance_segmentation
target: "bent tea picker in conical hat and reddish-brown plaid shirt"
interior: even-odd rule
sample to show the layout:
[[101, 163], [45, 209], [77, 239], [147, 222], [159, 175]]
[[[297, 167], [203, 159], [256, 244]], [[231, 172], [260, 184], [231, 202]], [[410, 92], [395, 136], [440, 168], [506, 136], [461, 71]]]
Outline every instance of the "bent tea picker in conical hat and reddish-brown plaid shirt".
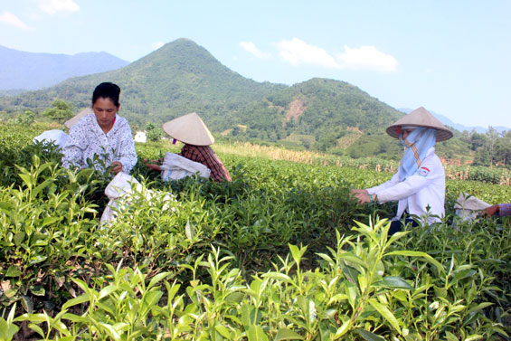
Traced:
[[[199, 115], [193, 112], [175, 118], [166, 122], [163, 129], [174, 138], [174, 143], [177, 140], [185, 144], [178, 155], [208, 167], [214, 181], [232, 181], [229, 171], [210, 147], [214, 143], [214, 137]], [[146, 165], [152, 170], [161, 171], [161, 167], [155, 163]]]

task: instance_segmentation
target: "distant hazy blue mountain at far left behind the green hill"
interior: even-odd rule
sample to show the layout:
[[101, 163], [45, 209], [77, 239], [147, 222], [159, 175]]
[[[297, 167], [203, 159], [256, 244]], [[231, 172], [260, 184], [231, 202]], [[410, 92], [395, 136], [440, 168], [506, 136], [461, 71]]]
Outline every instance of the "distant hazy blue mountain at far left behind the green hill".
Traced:
[[67, 55], [23, 52], [0, 46], [0, 91], [42, 89], [70, 77], [119, 69], [128, 63], [107, 52]]

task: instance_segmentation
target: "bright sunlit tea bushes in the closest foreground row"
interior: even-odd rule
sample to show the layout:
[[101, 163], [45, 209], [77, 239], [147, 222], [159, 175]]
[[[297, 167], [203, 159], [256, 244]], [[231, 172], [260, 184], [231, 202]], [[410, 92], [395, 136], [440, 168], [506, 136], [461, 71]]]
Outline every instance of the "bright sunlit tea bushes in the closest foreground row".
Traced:
[[[184, 290], [175, 280], [168, 281], [169, 272], [148, 279], [144, 267], [107, 265], [109, 274], [94, 279], [92, 287], [73, 279], [82, 293], [54, 317], [24, 314], [14, 321], [30, 320], [29, 327], [44, 339], [476, 340], [506, 336], [502, 325], [478, 317], [491, 303], [480, 301], [482, 287], [468, 285], [481, 279], [472, 279], [471, 265], [456, 265], [452, 259], [442, 264], [426, 252], [396, 248], [411, 232], [389, 238], [389, 226], [382, 220], [374, 225], [357, 223], [357, 236], [336, 232], [336, 248], [318, 255], [321, 261], [315, 270], [301, 269], [307, 246], [289, 245], [290, 254], [273, 264], [273, 270], [250, 281], [231, 268], [232, 256], [222, 256], [214, 248], [206, 259], [199, 256], [182, 265], [191, 275], [183, 283]], [[204, 280], [197, 278], [200, 268], [209, 275]], [[465, 295], [450, 297], [462, 291]]]

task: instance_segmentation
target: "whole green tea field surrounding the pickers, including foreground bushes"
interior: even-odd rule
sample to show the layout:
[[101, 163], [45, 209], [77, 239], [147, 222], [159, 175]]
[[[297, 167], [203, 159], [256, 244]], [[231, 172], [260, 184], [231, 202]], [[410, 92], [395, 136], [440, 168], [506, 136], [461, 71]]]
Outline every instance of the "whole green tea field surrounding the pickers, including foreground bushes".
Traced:
[[164, 184], [139, 163], [151, 200], [99, 225], [112, 175], [62, 169], [31, 142], [44, 128], [0, 126], [1, 340], [509, 337], [509, 220], [453, 215], [460, 192], [497, 204], [509, 185], [449, 180], [440, 226], [387, 238], [395, 205], [349, 191], [391, 173], [213, 146], [232, 183]]

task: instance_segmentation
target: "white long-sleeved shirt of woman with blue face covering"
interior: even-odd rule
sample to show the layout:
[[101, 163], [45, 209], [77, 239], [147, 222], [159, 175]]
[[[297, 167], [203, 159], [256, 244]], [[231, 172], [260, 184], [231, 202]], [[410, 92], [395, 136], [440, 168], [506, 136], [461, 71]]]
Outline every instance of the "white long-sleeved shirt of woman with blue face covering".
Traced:
[[[376, 194], [378, 203], [398, 201], [397, 213], [393, 220], [402, 217], [405, 210], [408, 213], [422, 215], [430, 213], [428, 223], [440, 222], [445, 213], [445, 172], [435, 148], [431, 147], [414, 175], [400, 182], [399, 174], [392, 179], [375, 187], [367, 188], [369, 194]], [[428, 212], [427, 207], [430, 207]]]

